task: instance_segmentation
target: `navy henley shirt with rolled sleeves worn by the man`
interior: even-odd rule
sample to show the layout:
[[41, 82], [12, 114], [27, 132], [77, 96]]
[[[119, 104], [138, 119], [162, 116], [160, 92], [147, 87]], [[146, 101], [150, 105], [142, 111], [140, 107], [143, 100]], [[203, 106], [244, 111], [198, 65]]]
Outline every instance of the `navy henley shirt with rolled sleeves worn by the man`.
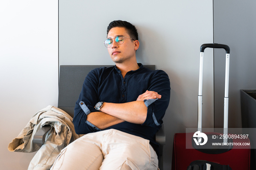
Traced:
[[[162, 70], [150, 70], [138, 64], [139, 69], [129, 71], [123, 78], [116, 67], [93, 69], [86, 76], [79, 99], [75, 105], [74, 126], [77, 134], [86, 134], [107, 129], [117, 129], [150, 140], [151, 146], [158, 153], [155, 133], [162, 126], [162, 118], [170, 101], [170, 80]], [[97, 102], [126, 103], [136, 101], [144, 92], [155, 91], [161, 99], [144, 100], [147, 106], [147, 118], [143, 124], [122, 122], [106, 129], [98, 129], [86, 120], [91, 112], [98, 112]]]

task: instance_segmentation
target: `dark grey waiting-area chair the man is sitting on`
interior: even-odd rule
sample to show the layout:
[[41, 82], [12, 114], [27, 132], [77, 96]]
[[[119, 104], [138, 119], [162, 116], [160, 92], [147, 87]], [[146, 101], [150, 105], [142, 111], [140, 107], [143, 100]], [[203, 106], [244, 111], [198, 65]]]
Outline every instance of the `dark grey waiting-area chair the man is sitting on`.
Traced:
[[[67, 112], [71, 117], [74, 117], [75, 103], [82, 90], [83, 82], [86, 75], [94, 68], [110, 67], [111, 65], [61, 65], [59, 78], [59, 98], [58, 108]], [[144, 67], [155, 70], [155, 65], [144, 65]], [[46, 133], [49, 131], [49, 126], [41, 128], [34, 136], [33, 142], [39, 146], [44, 144]], [[162, 128], [156, 134], [156, 141], [159, 146], [159, 169], [163, 169], [163, 145], [165, 145], [165, 130]]]

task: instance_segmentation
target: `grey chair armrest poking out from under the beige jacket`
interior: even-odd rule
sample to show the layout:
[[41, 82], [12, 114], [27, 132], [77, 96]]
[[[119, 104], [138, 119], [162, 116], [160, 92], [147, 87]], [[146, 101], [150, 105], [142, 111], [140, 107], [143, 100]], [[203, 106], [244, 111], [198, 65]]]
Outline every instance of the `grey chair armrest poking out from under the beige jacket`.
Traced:
[[45, 136], [50, 131], [52, 127], [50, 125], [44, 125], [41, 129], [39, 129], [34, 137], [33, 137], [33, 143], [37, 144], [39, 147], [41, 147], [45, 143]]

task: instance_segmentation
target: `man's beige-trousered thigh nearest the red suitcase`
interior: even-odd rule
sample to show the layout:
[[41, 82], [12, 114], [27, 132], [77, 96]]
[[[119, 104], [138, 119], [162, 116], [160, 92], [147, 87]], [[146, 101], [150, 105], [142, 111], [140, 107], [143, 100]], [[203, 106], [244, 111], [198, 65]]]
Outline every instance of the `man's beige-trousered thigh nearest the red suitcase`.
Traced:
[[149, 141], [111, 129], [102, 145], [100, 170], [157, 170], [158, 159]]

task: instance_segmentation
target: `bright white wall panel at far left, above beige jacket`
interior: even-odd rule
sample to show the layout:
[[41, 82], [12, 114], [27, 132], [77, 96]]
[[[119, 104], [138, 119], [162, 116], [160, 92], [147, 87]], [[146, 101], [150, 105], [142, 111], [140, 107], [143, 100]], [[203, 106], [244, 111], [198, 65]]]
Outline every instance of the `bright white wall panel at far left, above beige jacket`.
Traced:
[[0, 165], [26, 170], [34, 153], [9, 152], [31, 116], [58, 98], [58, 1], [0, 2]]

